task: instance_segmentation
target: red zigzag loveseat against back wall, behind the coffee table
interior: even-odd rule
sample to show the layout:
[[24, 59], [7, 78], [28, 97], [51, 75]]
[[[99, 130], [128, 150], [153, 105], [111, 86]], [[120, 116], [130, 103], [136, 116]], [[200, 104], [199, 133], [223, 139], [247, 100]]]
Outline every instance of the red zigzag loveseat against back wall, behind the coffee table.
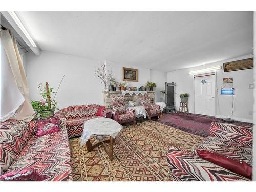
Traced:
[[[69, 106], [56, 112], [54, 117], [59, 117], [66, 122], [69, 138], [78, 137], [82, 135], [84, 121], [100, 117], [95, 116], [99, 106], [100, 105], [97, 104]], [[111, 118], [112, 112], [108, 109], [105, 109], [103, 116], [106, 118]]]

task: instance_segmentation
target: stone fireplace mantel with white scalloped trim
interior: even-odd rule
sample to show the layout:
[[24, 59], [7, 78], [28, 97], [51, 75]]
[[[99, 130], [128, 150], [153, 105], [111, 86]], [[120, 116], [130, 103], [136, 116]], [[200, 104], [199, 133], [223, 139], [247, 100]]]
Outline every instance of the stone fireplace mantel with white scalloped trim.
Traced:
[[114, 96], [124, 96], [125, 105], [128, 106], [128, 101], [133, 101], [135, 105], [140, 105], [141, 95], [149, 95], [151, 102], [155, 102], [155, 92], [154, 91], [103, 91], [104, 94], [104, 106], [106, 108], [112, 108], [111, 97]]

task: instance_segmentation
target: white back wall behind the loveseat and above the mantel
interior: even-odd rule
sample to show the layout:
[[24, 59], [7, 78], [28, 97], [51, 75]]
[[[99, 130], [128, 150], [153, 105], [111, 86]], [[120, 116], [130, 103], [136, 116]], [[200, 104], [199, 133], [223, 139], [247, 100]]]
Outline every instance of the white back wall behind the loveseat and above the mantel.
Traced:
[[[28, 54], [26, 57], [26, 67], [30, 98], [33, 100], [41, 99], [38, 91], [39, 83], [49, 82], [50, 87], [54, 87], [57, 90], [58, 84], [65, 74], [65, 78], [55, 98], [59, 103], [58, 108], [61, 109], [66, 106], [80, 104], [103, 105], [102, 91], [104, 86], [100, 84], [100, 80], [94, 74], [95, 69], [102, 62], [100, 60], [49, 51], [41, 51], [40, 56]], [[151, 79], [150, 69], [130, 65], [122, 66], [111, 62], [113, 76], [116, 81], [122, 81], [122, 67], [139, 70], [139, 82], [129, 82], [129, 86], [141, 86]], [[154, 79], [157, 80], [155, 77]], [[167, 80], [167, 75], [166, 79], [163, 80]]]

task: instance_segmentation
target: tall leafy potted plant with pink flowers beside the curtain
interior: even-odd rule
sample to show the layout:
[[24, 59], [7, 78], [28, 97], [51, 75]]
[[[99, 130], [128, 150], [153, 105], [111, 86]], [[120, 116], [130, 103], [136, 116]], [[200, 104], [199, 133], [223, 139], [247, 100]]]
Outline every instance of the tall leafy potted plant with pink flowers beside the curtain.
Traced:
[[45, 86], [40, 83], [38, 88], [40, 90], [40, 95], [42, 96], [40, 106], [41, 110], [39, 111], [40, 119], [52, 117], [55, 109], [59, 110], [58, 108], [56, 108], [57, 102], [51, 97], [51, 95], [56, 92], [53, 91], [53, 88], [49, 89], [48, 82], [46, 82]]

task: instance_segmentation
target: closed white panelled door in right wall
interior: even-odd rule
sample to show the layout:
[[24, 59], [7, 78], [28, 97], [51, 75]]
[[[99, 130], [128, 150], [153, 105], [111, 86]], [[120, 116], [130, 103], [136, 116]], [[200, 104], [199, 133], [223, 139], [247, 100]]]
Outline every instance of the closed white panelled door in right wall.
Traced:
[[215, 116], [214, 75], [195, 77], [195, 113]]

